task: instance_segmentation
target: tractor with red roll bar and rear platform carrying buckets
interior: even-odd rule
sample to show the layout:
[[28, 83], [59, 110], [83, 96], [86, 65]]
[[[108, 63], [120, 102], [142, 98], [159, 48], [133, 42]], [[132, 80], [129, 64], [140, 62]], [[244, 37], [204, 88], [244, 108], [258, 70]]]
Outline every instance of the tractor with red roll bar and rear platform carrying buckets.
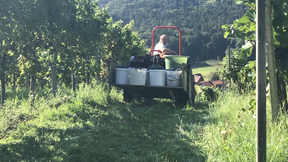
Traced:
[[[160, 65], [166, 69], [165, 59], [160, 55], [153, 55], [154, 50], [154, 31], [158, 28], [177, 29], [179, 31], [179, 56], [181, 56], [181, 30], [175, 26], [156, 26], [152, 30], [152, 50], [144, 56], [132, 56], [127, 62], [126, 66], [131, 68], [149, 68], [152, 65]], [[161, 51], [158, 51], [161, 52]], [[123, 100], [125, 102], [132, 102], [135, 99], [152, 99], [152, 98], [165, 98], [174, 99], [176, 104], [194, 104], [195, 101], [195, 88], [194, 76], [192, 75], [191, 64], [182, 63], [181, 86], [151, 86], [149, 85], [149, 78], [147, 84], [142, 86], [135, 86], [129, 84], [116, 84], [115, 83], [115, 68], [118, 67], [113, 61], [109, 62], [109, 85], [123, 89]], [[149, 75], [148, 75], [149, 77]]]

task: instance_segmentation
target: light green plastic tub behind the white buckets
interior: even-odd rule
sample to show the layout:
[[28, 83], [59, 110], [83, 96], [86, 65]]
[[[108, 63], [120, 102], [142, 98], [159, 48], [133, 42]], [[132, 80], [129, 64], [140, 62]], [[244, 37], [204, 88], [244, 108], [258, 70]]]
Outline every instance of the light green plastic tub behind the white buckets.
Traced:
[[187, 64], [189, 56], [174, 56], [164, 55], [166, 69], [170, 68], [182, 68], [182, 63]]

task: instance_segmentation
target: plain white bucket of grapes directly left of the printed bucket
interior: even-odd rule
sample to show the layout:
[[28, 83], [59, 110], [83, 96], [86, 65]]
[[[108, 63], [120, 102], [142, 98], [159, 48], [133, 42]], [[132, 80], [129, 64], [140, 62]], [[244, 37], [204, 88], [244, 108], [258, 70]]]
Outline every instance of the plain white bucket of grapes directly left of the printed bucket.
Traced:
[[150, 86], [165, 86], [166, 70], [149, 70]]

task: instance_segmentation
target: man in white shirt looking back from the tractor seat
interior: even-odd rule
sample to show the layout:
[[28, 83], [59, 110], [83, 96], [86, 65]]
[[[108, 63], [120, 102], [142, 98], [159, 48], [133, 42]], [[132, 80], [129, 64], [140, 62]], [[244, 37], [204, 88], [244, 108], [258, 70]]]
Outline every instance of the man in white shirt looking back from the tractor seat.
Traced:
[[165, 44], [167, 43], [167, 36], [165, 34], [160, 36], [159, 42], [156, 44], [154, 50], [160, 50], [162, 53], [154, 51], [153, 55], [160, 54], [161, 58], [165, 58], [163, 55], [177, 55], [175, 51], [171, 51], [165, 48]]

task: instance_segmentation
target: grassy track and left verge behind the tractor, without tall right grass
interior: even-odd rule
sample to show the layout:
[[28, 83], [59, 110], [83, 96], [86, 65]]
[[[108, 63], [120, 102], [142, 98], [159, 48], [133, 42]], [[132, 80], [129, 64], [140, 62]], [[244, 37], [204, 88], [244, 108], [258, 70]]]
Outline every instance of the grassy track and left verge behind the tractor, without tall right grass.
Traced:
[[0, 140], [0, 161], [205, 161], [197, 136], [179, 132], [181, 120], [205, 124], [205, 109], [175, 109], [170, 100], [125, 104], [115, 90], [111, 98], [87, 88], [76, 99], [64, 96], [51, 105], [40, 99], [33, 111], [27, 100], [10, 103], [20, 104], [23, 119]]

